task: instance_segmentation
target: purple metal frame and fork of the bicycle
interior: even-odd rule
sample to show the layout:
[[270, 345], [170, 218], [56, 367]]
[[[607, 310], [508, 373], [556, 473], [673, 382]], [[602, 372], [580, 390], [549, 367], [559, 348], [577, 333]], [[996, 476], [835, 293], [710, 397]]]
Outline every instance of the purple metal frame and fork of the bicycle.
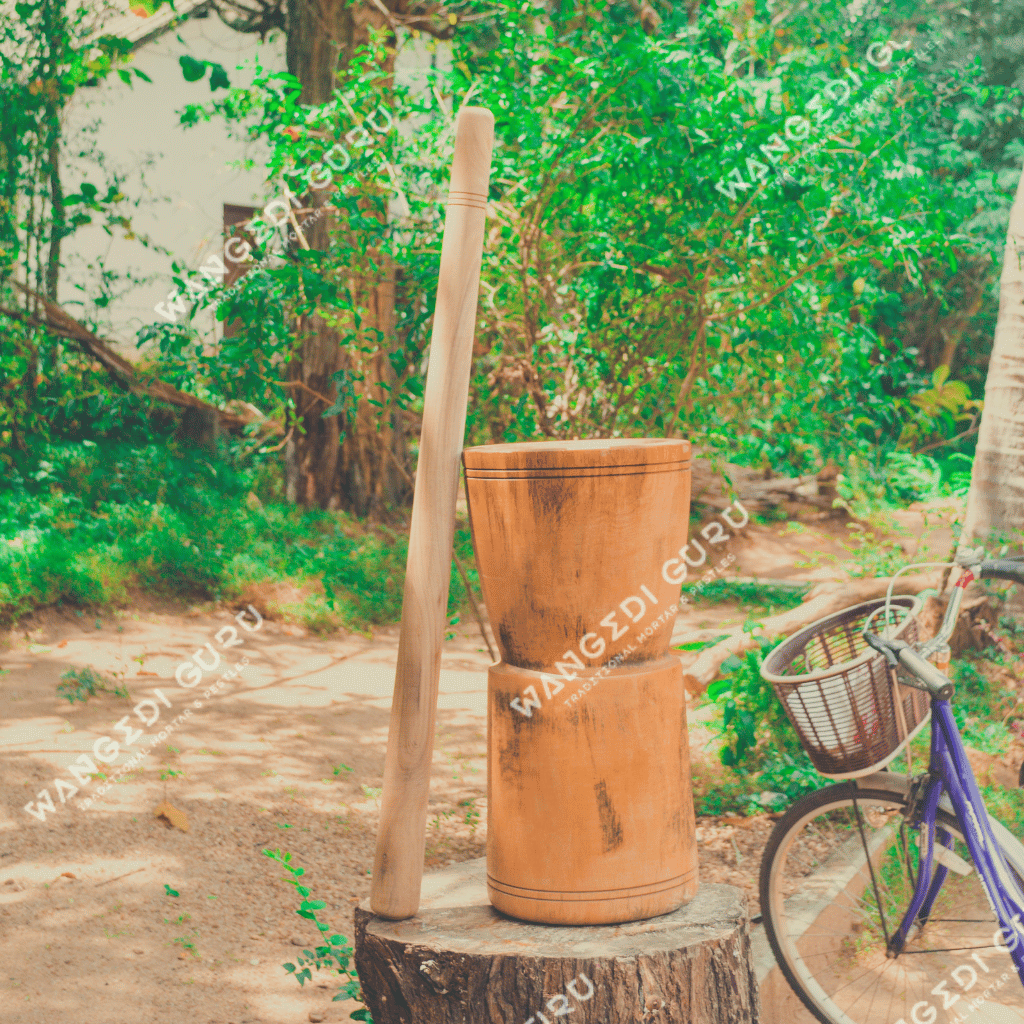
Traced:
[[[935, 861], [935, 841], [938, 836], [947, 849], [952, 846], [952, 837], [942, 825], [936, 826], [939, 801], [943, 792], [949, 794], [956, 819], [964, 830], [964, 839], [971, 851], [971, 859], [981, 877], [981, 882], [992, 910], [999, 922], [993, 933], [992, 944], [999, 946], [1004, 940], [1017, 974], [1024, 985], [1024, 892], [1014, 880], [1002, 856], [1002, 850], [995, 840], [988, 812], [978, 790], [978, 782], [964, 750], [964, 740], [953, 719], [948, 700], [932, 700], [932, 755], [930, 761], [931, 778], [921, 802], [921, 828], [927, 829], [923, 837], [926, 854], [919, 862], [918, 881], [913, 898], [899, 928], [893, 933], [890, 948], [902, 951], [906, 937], [919, 916], [927, 918], [949, 868]], [[987, 947], [979, 947], [987, 948]]]

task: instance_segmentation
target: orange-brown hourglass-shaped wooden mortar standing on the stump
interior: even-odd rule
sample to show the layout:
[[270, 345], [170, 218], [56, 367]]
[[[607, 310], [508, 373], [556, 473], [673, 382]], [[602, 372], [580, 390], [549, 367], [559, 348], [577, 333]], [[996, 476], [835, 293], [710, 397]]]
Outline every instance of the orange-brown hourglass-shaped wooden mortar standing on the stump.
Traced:
[[[488, 673], [487, 891], [523, 921], [669, 913], [697, 891], [686, 706], [669, 650], [687, 441], [463, 453], [501, 660]], [[673, 563], [673, 565], [676, 563]]]

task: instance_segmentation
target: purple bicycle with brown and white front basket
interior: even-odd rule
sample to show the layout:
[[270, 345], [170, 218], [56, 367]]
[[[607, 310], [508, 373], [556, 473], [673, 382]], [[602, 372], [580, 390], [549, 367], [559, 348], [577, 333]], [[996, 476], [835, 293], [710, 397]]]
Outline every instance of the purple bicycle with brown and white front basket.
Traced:
[[[858, 756], [878, 757], [876, 740], [890, 735], [885, 756], [866, 770], [851, 767], [850, 759], [845, 765], [842, 759], [836, 762], [855, 777], [791, 807], [776, 823], [761, 863], [768, 941], [786, 981], [823, 1024], [1024, 1024], [1024, 988], [1013, 984], [1016, 973], [1024, 986], [1024, 846], [985, 809], [953, 717], [953, 685], [927, 658], [952, 634], [970, 583], [1024, 584], [1024, 562], [981, 561], [977, 553], [965, 552], [957, 564], [965, 571], [942, 628], [920, 650], [908, 628], [912, 609], [905, 607], [907, 599], [906, 615], [898, 624], [902, 636], [883, 637], [865, 627], [859, 646], [850, 640], [847, 653], [853, 659], [842, 673], [834, 665], [825, 684], [843, 677], [851, 716], [836, 712], [837, 707], [850, 710], [842, 706], [836, 686], [829, 690], [806, 673], [785, 674], [800, 634], [764, 663], [765, 677], [787, 701], [791, 720], [816, 765], [827, 762], [829, 752], [836, 754], [837, 743]], [[887, 598], [887, 630], [897, 625], [890, 622], [890, 607]], [[835, 637], [821, 642], [836, 646]], [[804, 658], [806, 668], [806, 650]], [[888, 677], [888, 690], [878, 683], [881, 675]], [[812, 692], [812, 686], [817, 690]], [[885, 770], [898, 753], [889, 750], [888, 706], [868, 701], [858, 708], [850, 696], [892, 693], [895, 718], [911, 716], [909, 725], [904, 722], [895, 732], [898, 748], [908, 746], [929, 716], [920, 722], [913, 717], [907, 686], [921, 699], [927, 697], [930, 712], [931, 753], [922, 774]], [[826, 719], [811, 700], [815, 693]], [[874, 708], [874, 717], [861, 714], [863, 707]]]

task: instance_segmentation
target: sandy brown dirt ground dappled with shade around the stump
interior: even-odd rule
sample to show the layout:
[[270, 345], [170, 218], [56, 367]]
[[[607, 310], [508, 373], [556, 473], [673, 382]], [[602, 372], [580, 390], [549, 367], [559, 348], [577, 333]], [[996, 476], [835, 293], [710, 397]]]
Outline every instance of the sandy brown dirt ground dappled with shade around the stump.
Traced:
[[[946, 556], [946, 510], [900, 518], [892, 528], [904, 530], [908, 551]], [[721, 550], [736, 556], [727, 574], [843, 579], [865, 554], [848, 534], [842, 519], [807, 513], [751, 522]], [[348, 1019], [354, 1004], [331, 1001], [337, 976], [314, 974], [300, 988], [283, 969], [317, 932], [261, 851], [290, 851], [311, 898], [327, 904], [322, 920], [351, 936], [352, 908], [370, 889], [398, 628], [324, 638], [269, 621], [246, 629], [255, 620], [238, 612], [140, 599], [99, 616], [46, 609], [0, 636], [2, 1024]], [[692, 639], [745, 617], [697, 601], [673, 635]], [[442, 662], [428, 867], [485, 852], [490, 658], [473, 620], [463, 624]], [[199, 679], [178, 669], [197, 651], [209, 666]], [[58, 697], [61, 676], [86, 667], [130, 697]], [[133, 740], [148, 753], [111, 782], [129, 754], [113, 757], [102, 737], [123, 742], [116, 726], [145, 699], [153, 725], [136, 721], [143, 736]], [[700, 771], [698, 718], [691, 754]], [[69, 766], [81, 755], [76, 780]], [[155, 815], [165, 800], [187, 830]], [[767, 815], [699, 820], [701, 877], [756, 897], [771, 825]]]

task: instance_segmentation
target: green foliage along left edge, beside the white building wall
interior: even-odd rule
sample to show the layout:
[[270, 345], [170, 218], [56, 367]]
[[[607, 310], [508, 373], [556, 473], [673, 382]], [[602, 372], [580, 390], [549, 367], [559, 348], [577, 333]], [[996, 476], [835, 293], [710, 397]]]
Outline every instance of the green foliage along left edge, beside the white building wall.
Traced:
[[[27, 285], [56, 298], [62, 257], [80, 228], [96, 224], [108, 234], [150, 245], [135, 233], [132, 206], [122, 177], [88, 181], [77, 188], [61, 179], [67, 159], [66, 112], [84, 88], [112, 74], [127, 86], [147, 81], [131, 67], [132, 43], [103, 33], [112, 13], [75, 0], [20, 0], [15, 14], [0, 17], [0, 473], [34, 466], [36, 449], [58, 433], [58, 423], [82, 407], [103, 429], [104, 413], [135, 424], [137, 399], [112, 389], [76, 346], [68, 346], [40, 324], [38, 300], [12, 286]], [[16, 54], [16, 59], [11, 56]], [[81, 144], [76, 156], [85, 156]], [[63, 248], [62, 248], [63, 247]], [[101, 262], [101, 261], [100, 261]], [[100, 296], [111, 282], [99, 274]], [[72, 408], [69, 408], [72, 407]], [[76, 409], [75, 407], [78, 407]], [[102, 408], [102, 407], [105, 407]]]

